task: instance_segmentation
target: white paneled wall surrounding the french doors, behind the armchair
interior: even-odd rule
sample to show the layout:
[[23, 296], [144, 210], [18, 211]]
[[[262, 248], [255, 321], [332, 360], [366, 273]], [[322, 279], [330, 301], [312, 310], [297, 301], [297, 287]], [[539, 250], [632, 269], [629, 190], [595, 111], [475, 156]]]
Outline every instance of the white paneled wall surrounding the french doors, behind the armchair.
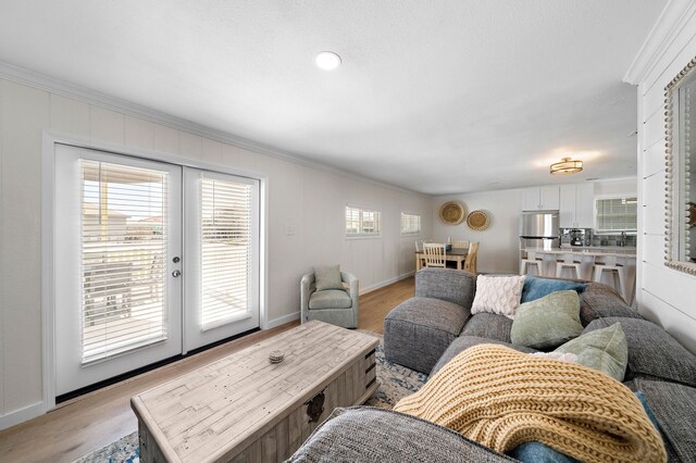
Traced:
[[[424, 233], [430, 234], [430, 197], [237, 148], [153, 121], [134, 116], [130, 110], [113, 111], [0, 79], [0, 428], [36, 414], [42, 398], [44, 130], [265, 175], [269, 326], [299, 317], [300, 276], [313, 265], [339, 263], [360, 278], [363, 291], [414, 271], [415, 238], [400, 237], [400, 212], [420, 213]], [[346, 204], [381, 210], [382, 238], [345, 239]], [[295, 233], [286, 234], [287, 227]]]

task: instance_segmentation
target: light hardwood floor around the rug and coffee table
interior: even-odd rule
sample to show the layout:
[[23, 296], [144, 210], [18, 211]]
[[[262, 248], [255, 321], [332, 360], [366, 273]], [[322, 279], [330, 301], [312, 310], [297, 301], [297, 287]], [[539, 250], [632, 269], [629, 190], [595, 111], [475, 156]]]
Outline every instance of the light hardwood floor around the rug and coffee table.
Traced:
[[[385, 315], [413, 296], [407, 278], [360, 297], [360, 328], [382, 333]], [[0, 431], [0, 462], [72, 462], [137, 430], [130, 398], [299, 324], [253, 333], [178, 362], [61, 404], [44, 416]]]

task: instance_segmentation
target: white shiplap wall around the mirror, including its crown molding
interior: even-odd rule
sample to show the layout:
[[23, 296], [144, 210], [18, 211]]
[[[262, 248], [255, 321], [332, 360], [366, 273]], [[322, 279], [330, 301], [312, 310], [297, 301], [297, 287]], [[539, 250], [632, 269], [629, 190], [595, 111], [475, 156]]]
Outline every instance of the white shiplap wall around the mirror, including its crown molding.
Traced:
[[638, 84], [638, 311], [696, 352], [696, 278], [664, 266], [664, 87], [696, 55], [696, 3], [672, 0], [626, 80]]

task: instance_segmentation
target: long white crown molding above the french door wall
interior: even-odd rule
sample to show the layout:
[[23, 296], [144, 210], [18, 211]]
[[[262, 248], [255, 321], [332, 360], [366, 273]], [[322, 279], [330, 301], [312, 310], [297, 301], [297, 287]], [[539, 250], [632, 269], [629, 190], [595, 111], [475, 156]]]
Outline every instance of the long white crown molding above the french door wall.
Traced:
[[431, 198], [432, 195], [427, 195], [421, 191], [410, 190], [408, 188], [399, 187], [397, 185], [387, 184], [374, 178], [365, 177], [355, 172], [337, 168], [328, 164], [316, 162], [304, 158], [300, 154], [296, 154], [270, 145], [264, 145], [258, 141], [250, 140], [248, 138], [239, 137], [237, 135], [217, 130], [212, 127], [204, 126], [202, 124], [195, 123], [192, 121], [184, 120], [161, 111], [153, 110], [151, 108], [144, 107], [132, 101], [127, 101], [121, 98], [112, 97], [107, 93], [102, 93], [97, 90], [80, 87], [71, 84], [65, 80], [61, 80], [54, 77], [50, 77], [44, 74], [39, 74], [33, 71], [25, 70], [0, 61], [0, 77], [8, 80], [15, 82], [17, 84], [27, 85], [40, 90], [45, 90], [54, 95], [76, 99], [88, 104], [94, 104], [108, 110], [116, 111], [134, 117], [139, 117], [156, 124], [164, 125], [177, 130], [187, 132], [189, 134], [198, 135], [211, 140], [220, 141], [226, 145], [232, 145], [237, 148], [253, 151], [257, 153], [265, 154], [272, 158], [276, 158], [283, 161], [293, 162], [306, 167], [316, 168], [319, 171], [327, 172], [331, 174], [347, 177], [353, 180], [368, 183], [371, 185], [388, 188], [399, 192], [409, 195], [418, 195], [423, 198]]

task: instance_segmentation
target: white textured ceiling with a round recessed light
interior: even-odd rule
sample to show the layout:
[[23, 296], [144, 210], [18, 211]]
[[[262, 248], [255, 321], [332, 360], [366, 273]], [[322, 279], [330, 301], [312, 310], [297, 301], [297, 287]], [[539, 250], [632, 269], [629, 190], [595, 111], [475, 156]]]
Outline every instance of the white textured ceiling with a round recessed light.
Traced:
[[[664, 0], [0, 0], [0, 61], [426, 193], [636, 174]], [[343, 65], [325, 72], [314, 54]], [[560, 178], [566, 153], [585, 171]]]

